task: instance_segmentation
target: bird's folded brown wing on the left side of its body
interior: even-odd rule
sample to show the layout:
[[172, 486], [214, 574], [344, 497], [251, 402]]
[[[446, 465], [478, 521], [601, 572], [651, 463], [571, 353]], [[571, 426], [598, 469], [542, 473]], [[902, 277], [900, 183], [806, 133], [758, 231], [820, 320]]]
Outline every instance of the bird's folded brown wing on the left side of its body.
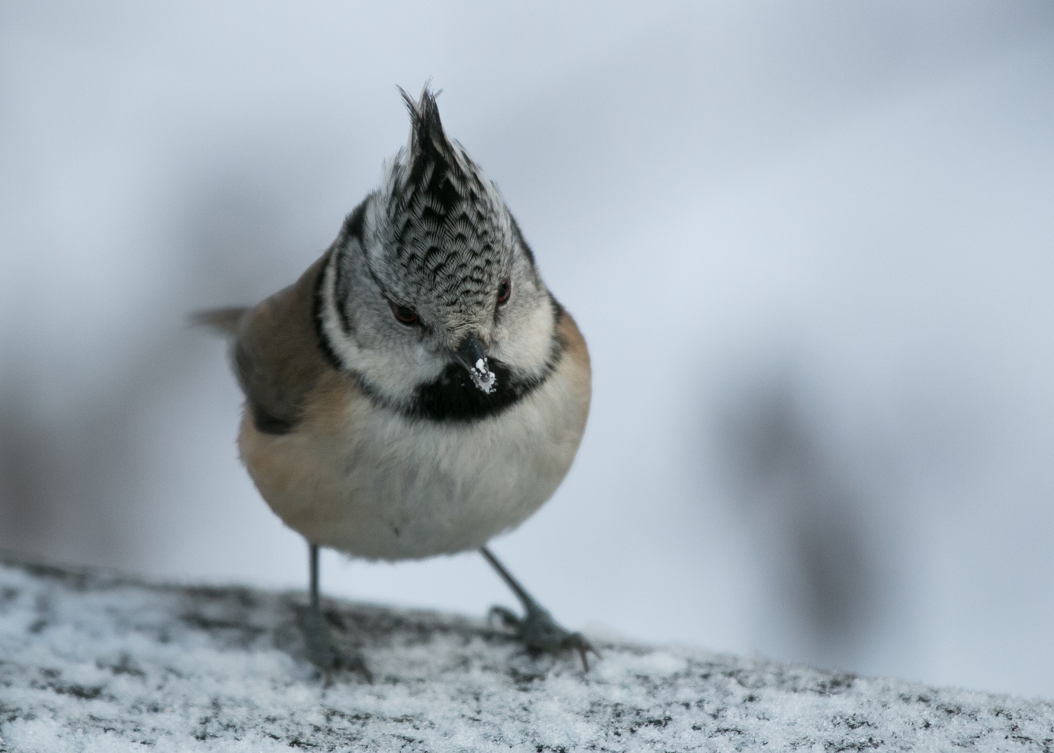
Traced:
[[314, 297], [324, 254], [290, 287], [243, 314], [237, 324], [234, 370], [259, 431], [293, 430], [305, 398], [332, 367], [318, 344]]

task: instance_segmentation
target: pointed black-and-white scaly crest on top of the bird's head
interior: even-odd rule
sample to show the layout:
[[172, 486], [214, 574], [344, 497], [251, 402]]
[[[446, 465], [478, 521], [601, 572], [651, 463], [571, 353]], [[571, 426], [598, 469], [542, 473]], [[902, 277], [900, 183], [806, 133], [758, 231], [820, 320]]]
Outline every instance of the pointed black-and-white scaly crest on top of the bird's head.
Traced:
[[372, 252], [386, 257], [378, 267], [396, 274], [385, 282], [407, 301], [428, 300], [468, 323], [493, 311], [518, 234], [497, 187], [444, 132], [435, 95], [426, 88], [414, 101], [399, 91], [410, 141], [382, 187], [384, 216], [374, 227], [383, 226], [384, 237]]

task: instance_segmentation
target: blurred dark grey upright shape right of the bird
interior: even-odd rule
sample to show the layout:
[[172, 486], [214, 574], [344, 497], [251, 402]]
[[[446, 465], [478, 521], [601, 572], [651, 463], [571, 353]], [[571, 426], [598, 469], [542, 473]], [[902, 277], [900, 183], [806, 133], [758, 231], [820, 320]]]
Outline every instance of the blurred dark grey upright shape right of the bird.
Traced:
[[763, 624], [779, 625], [784, 651], [799, 660], [854, 667], [889, 606], [892, 574], [867, 515], [876, 491], [838, 458], [794, 380], [752, 386], [720, 422], [718, 466], [759, 539], [768, 598], [782, 612]]

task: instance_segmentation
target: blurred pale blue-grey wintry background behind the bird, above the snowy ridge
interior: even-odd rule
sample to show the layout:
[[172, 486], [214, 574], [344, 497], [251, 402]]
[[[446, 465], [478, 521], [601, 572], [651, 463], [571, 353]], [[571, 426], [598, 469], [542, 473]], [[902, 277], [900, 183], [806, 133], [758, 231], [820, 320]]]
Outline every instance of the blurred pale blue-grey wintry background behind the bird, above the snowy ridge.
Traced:
[[0, 4], [0, 546], [302, 586], [187, 314], [291, 283], [429, 77], [592, 352], [494, 543], [559, 619], [1054, 696], [1047, 1]]

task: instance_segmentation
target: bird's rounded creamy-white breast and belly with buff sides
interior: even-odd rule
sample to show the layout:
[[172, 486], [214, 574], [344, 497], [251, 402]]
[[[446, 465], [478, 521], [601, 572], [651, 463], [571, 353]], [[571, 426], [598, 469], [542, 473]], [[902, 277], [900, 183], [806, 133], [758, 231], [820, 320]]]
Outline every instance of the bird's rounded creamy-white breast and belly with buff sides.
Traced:
[[243, 423], [242, 458], [274, 511], [315, 543], [387, 560], [473, 549], [557, 489], [588, 385], [588, 366], [565, 354], [523, 401], [471, 424], [408, 420], [359, 398], [332, 433], [267, 437]]

